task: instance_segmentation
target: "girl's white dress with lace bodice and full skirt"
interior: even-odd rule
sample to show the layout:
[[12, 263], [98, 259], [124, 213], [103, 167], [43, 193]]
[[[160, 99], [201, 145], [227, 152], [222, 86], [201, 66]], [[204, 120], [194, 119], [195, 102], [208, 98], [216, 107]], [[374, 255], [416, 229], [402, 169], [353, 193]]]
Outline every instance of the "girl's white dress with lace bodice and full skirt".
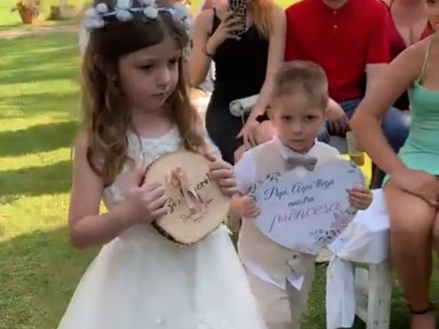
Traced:
[[[129, 136], [129, 154], [147, 165], [180, 145], [174, 128]], [[104, 191], [108, 208], [123, 199], [128, 171]], [[82, 277], [59, 329], [265, 329], [226, 228], [179, 247], [150, 226], [135, 226], [102, 247]]]

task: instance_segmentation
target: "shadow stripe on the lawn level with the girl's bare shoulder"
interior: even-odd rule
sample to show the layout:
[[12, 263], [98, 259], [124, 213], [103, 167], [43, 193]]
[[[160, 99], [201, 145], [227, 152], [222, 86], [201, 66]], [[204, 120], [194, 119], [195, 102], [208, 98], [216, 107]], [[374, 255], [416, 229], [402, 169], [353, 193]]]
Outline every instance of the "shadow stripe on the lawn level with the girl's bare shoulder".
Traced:
[[77, 121], [65, 121], [34, 125], [23, 130], [0, 132], [0, 157], [20, 156], [69, 147], [77, 130]]

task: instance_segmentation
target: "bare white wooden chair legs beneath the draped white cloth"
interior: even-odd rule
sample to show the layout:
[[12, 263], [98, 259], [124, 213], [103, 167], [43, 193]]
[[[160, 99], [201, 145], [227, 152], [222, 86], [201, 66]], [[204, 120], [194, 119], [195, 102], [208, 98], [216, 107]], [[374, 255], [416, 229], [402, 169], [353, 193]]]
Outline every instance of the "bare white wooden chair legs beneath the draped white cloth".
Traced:
[[355, 314], [366, 329], [390, 328], [392, 272], [388, 262], [355, 268]]

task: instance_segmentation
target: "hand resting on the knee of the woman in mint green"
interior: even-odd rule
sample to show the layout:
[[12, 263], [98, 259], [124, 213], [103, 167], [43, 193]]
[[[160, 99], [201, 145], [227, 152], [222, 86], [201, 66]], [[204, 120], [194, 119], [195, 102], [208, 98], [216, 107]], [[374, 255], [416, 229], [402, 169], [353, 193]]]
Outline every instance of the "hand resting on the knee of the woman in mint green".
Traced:
[[425, 171], [404, 168], [392, 175], [392, 184], [401, 190], [424, 199], [432, 207], [439, 207], [439, 179]]

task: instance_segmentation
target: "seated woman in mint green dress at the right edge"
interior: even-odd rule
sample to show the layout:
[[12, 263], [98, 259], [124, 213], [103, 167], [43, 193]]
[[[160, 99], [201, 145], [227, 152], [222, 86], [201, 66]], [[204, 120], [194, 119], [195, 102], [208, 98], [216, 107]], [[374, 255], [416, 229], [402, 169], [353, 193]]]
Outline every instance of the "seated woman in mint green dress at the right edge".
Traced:
[[[439, 0], [426, 0], [436, 34], [409, 47], [366, 94], [351, 121], [361, 146], [388, 173], [392, 265], [412, 313], [412, 329], [434, 329], [429, 302], [431, 247], [439, 245]], [[396, 155], [379, 121], [409, 90], [412, 127]]]

